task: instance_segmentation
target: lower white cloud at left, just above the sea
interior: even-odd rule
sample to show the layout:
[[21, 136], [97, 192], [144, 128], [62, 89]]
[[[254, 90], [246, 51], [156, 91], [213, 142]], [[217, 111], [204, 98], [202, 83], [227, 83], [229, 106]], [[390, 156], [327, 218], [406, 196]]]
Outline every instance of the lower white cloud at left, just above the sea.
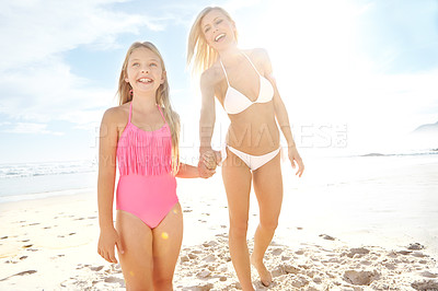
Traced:
[[95, 123], [102, 116], [77, 116], [93, 108], [115, 105], [112, 102], [115, 88], [91, 86], [87, 79], [72, 74], [69, 66], [58, 57], [49, 57], [46, 62], [27, 69], [0, 72], [0, 113], [12, 120]]

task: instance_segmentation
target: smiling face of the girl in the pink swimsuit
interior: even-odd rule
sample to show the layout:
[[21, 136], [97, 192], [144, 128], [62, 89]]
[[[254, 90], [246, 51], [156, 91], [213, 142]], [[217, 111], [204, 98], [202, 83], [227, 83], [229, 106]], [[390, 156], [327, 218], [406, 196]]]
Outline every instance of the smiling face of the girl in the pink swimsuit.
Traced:
[[165, 71], [159, 56], [145, 47], [132, 50], [126, 67], [125, 81], [131, 85], [134, 94], [154, 93], [164, 80]]

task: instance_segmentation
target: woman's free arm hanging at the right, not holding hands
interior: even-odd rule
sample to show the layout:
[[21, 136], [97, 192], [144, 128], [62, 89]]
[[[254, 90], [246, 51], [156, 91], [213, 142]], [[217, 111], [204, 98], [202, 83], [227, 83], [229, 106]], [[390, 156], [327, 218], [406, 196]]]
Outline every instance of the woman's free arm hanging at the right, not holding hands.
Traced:
[[266, 50], [264, 50], [264, 49], [260, 49], [257, 51], [257, 55], [260, 55], [260, 58], [263, 61], [264, 75], [267, 80], [270, 81], [270, 83], [273, 84], [273, 88], [274, 88], [275, 117], [277, 118], [277, 123], [281, 129], [283, 135], [285, 136], [286, 141], [287, 141], [289, 160], [290, 160], [293, 168], [296, 167], [296, 164], [298, 165], [298, 171], [296, 174], [301, 177], [302, 172], [304, 171], [304, 164], [302, 162], [300, 154], [298, 153], [297, 146], [296, 146], [293, 137], [292, 137], [292, 131], [290, 129], [290, 124], [289, 124], [289, 116], [286, 110], [285, 103], [283, 102], [280, 94], [278, 92], [278, 89], [277, 89], [277, 83], [273, 75], [273, 67], [270, 65], [269, 57], [268, 57]]

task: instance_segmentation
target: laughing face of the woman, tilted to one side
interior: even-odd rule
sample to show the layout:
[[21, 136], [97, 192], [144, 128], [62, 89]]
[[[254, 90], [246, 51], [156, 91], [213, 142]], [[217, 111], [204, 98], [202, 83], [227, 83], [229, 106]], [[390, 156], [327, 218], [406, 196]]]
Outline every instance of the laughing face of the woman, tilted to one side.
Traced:
[[219, 10], [208, 12], [200, 21], [200, 28], [207, 44], [217, 50], [235, 43], [234, 22]]

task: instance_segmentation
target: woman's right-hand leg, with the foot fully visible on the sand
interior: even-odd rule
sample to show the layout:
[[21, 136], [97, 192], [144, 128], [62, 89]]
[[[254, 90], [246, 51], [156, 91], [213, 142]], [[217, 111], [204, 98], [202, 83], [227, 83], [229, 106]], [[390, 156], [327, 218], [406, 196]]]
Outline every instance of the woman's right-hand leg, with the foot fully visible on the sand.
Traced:
[[280, 154], [253, 172], [254, 191], [260, 208], [260, 223], [254, 235], [254, 252], [251, 263], [258, 271], [264, 286], [272, 282], [270, 272], [263, 264], [265, 252], [278, 224], [283, 201]]

